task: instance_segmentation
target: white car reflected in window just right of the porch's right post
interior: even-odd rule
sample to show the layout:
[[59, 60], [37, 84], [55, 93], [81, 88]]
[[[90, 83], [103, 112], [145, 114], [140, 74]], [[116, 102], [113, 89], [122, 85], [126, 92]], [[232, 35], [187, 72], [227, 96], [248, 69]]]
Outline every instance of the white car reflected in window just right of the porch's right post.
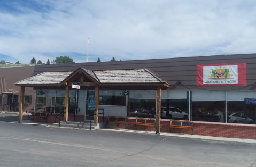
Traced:
[[[166, 118], [166, 107], [161, 107], [161, 118]], [[169, 119], [188, 120], [189, 115], [181, 111], [179, 108], [170, 107]]]

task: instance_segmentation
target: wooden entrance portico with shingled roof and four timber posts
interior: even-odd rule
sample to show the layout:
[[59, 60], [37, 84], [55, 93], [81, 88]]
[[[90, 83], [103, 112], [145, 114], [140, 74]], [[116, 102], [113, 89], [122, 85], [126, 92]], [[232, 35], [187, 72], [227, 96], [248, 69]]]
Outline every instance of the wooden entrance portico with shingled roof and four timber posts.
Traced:
[[75, 71], [44, 72], [36, 76], [19, 81], [19, 123], [22, 123], [25, 87], [65, 89], [64, 121], [68, 121], [69, 89], [72, 85], [79, 85], [81, 89], [95, 89], [94, 123], [98, 123], [99, 89], [107, 87], [125, 87], [136, 90], [137, 87], [153, 87], [157, 90], [156, 132], [160, 133], [161, 88], [168, 88], [169, 83], [154, 74], [149, 69], [126, 70], [88, 70], [79, 68]]

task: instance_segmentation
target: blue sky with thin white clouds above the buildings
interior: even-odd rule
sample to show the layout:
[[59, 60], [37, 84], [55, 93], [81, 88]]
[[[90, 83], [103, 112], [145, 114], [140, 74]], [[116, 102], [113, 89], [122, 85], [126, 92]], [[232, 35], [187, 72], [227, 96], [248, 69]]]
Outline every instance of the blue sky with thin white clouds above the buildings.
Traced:
[[256, 53], [256, 1], [1, 0], [0, 60]]

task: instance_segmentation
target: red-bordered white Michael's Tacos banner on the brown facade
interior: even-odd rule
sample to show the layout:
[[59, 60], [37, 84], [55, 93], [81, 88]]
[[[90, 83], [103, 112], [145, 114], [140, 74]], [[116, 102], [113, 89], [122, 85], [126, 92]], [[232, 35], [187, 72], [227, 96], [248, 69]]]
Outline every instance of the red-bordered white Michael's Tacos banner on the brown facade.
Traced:
[[246, 63], [197, 65], [197, 86], [246, 85]]

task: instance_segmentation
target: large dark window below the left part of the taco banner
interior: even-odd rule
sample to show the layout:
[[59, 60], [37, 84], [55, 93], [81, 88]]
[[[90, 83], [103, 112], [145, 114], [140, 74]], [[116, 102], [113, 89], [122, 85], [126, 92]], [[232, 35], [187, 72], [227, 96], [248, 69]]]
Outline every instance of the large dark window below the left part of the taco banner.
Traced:
[[192, 91], [191, 120], [225, 122], [225, 91]]

